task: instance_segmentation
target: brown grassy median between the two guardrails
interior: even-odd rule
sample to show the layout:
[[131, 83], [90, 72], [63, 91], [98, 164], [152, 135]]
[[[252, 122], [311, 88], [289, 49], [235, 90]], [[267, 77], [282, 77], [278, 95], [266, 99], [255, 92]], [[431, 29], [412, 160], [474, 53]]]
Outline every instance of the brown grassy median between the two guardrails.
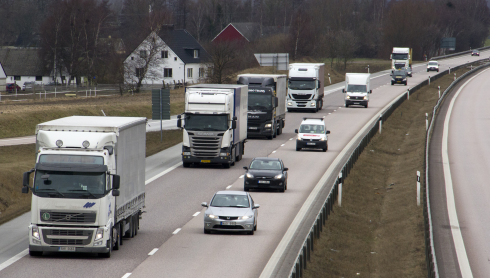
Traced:
[[304, 277], [427, 276], [415, 177], [423, 170], [425, 113], [437, 86], [452, 81], [451, 73], [421, 88], [383, 123], [345, 180], [342, 207], [330, 215]]

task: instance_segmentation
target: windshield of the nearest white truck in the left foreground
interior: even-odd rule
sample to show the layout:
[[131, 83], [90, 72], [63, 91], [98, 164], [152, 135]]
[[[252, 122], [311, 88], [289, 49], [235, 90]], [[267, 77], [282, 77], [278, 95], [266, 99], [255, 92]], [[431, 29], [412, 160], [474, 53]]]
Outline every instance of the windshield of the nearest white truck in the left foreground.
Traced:
[[105, 173], [36, 171], [34, 194], [37, 196], [98, 199], [105, 193]]

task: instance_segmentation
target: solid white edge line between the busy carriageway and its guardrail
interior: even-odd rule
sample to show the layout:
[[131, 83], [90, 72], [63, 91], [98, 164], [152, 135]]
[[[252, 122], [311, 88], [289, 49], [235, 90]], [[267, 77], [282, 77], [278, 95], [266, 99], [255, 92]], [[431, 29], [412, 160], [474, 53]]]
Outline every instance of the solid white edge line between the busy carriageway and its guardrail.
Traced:
[[364, 127], [359, 130], [359, 132], [351, 139], [349, 143], [342, 149], [342, 151], [337, 155], [335, 160], [330, 164], [328, 167], [327, 171], [323, 174], [322, 178], [318, 181], [318, 183], [315, 185], [315, 188], [311, 191], [310, 195], [306, 199], [306, 201], [303, 203], [303, 206], [299, 210], [298, 214], [296, 214], [296, 217], [294, 217], [293, 222], [289, 226], [288, 230], [284, 234], [283, 238], [279, 242], [279, 244], [276, 247], [276, 250], [274, 250], [274, 253], [270, 257], [269, 261], [267, 262], [267, 265], [264, 267], [262, 270], [262, 273], [260, 274], [259, 278], [268, 278], [271, 277], [272, 273], [276, 269], [277, 264], [279, 263], [279, 260], [281, 259], [282, 255], [284, 254], [284, 251], [286, 250], [286, 247], [289, 245], [289, 242], [293, 239], [293, 236], [296, 232], [296, 230], [299, 228], [301, 221], [305, 217], [306, 213], [310, 209], [310, 207], [313, 204], [313, 201], [315, 200], [316, 196], [320, 192], [320, 190], [323, 187], [323, 184], [326, 182], [328, 177], [333, 174], [333, 170], [337, 166], [337, 164], [340, 163], [342, 158], [345, 156], [347, 151], [356, 143], [356, 140], [358, 137], [360, 137], [368, 128], [371, 127], [371, 125], [374, 124], [375, 121], [377, 121], [383, 111], [386, 110], [386, 108], [390, 107], [390, 105], [393, 105], [398, 98], [401, 95], [406, 94], [406, 92], [401, 93], [397, 97], [395, 97], [390, 103], [388, 103], [385, 107], [383, 107], [380, 112], [376, 113], [370, 121], [368, 121]]

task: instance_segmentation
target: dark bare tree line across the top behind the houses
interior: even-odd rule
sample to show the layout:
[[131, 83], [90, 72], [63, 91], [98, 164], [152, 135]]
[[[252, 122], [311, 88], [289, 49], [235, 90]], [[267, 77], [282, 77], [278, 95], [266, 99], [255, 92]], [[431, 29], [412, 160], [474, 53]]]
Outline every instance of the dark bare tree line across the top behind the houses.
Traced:
[[[223, 71], [255, 65], [258, 52], [342, 67], [353, 57], [388, 59], [394, 46], [413, 48], [415, 60], [436, 56], [445, 37], [456, 38], [455, 51], [482, 47], [490, 10], [485, 0], [0, 0], [0, 17], [0, 41], [40, 47], [47, 70], [119, 83], [125, 57], [162, 26], [188, 30]], [[241, 46], [211, 43], [230, 22], [284, 32]], [[125, 53], [115, 50], [121, 41]]]

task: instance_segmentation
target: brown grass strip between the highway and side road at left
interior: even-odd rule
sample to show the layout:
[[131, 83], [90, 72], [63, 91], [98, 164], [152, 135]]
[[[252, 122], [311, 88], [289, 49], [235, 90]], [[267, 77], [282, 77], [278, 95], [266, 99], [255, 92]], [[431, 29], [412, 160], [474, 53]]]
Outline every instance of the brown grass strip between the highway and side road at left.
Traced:
[[[182, 142], [182, 131], [148, 132], [146, 156], [151, 156]], [[35, 163], [35, 145], [0, 147], [0, 224], [31, 209], [31, 194], [22, 194], [22, 173], [32, 169]]]

